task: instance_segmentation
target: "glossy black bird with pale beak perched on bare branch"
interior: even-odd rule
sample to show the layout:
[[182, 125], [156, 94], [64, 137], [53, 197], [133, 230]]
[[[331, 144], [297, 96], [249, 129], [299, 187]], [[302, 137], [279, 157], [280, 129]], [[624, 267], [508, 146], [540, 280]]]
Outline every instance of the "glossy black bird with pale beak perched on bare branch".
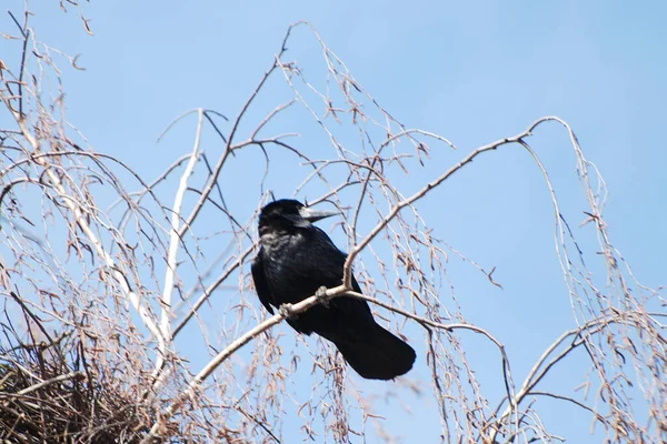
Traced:
[[[293, 304], [321, 286], [342, 283], [347, 254], [311, 222], [337, 214], [316, 211], [295, 200], [279, 200], [259, 214], [260, 250], [252, 262], [252, 280], [263, 306]], [[352, 276], [352, 290], [361, 293]], [[378, 325], [366, 301], [338, 296], [318, 304], [287, 322], [297, 332], [317, 333], [331, 341], [362, 377], [391, 380], [407, 373], [415, 350]]]

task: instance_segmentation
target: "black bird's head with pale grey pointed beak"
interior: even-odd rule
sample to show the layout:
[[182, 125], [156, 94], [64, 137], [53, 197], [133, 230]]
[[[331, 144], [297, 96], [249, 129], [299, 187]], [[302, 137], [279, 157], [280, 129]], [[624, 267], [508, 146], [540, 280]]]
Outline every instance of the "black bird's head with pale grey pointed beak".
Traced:
[[313, 210], [299, 201], [281, 199], [261, 209], [259, 233], [261, 235], [278, 230], [308, 228], [312, 222], [335, 214], [339, 214], [339, 212]]

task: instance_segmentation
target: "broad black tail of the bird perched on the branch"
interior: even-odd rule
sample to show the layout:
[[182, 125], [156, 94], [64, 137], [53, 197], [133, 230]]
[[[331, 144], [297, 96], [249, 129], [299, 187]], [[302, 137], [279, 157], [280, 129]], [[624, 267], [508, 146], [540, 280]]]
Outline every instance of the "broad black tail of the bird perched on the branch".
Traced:
[[362, 335], [347, 335], [335, 342], [352, 369], [367, 380], [391, 380], [412, 369], [415, 350], [392, 333], [375, 324]]

